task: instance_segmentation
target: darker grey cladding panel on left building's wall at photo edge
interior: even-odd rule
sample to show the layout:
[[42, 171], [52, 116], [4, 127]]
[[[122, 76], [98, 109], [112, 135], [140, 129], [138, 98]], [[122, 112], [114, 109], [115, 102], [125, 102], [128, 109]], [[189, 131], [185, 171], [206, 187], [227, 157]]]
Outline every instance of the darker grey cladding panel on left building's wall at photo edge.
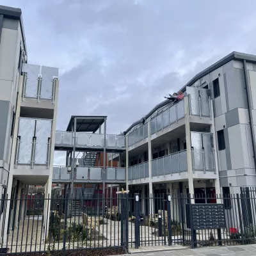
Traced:
[[8, 115], [9, 115], [9, 101], [0, 100], [0, 160], [4, 157], [4, 150], [6, 148], [5, 138], [6, 138], [6, 129], [8, 124]]

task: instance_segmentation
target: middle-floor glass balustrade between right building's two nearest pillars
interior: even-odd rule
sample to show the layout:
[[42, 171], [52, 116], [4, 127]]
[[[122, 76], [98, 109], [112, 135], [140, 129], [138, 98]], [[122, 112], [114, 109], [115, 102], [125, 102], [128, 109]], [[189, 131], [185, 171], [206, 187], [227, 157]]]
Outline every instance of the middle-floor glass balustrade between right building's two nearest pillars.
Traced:
[[152, 160], [152, 177], [187, 172], [187, 150]]

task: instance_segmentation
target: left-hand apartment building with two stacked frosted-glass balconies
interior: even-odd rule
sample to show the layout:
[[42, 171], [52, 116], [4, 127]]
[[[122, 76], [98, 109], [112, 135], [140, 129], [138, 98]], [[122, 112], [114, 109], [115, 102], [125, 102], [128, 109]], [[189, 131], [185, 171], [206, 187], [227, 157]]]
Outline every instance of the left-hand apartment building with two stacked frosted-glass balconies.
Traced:
[[[2, 198], [22, 198], [29, 185], [44, 185], [51, 195], [58, 88], [58, 68], [28, 62], [21, 10], [0, 6]], [[0, 218], [1, 236], [26, 216], [26, 204], [10, 202], [2, 201], [1, 214], [8, 214]]]

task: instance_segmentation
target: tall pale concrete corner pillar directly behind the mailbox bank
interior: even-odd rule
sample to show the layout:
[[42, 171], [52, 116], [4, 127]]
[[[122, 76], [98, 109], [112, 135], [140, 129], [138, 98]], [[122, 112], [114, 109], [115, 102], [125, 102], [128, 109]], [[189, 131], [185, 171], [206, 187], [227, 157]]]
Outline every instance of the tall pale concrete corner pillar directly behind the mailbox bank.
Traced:
[[[187, 161], [188, 161], [188, 187], [191, 196], [194, 195], [194, 181], [193, 181], [193, 162], [191, 152], [191, 136], [190, 136], [190, 115], [189, 115], [189, 97], [184, 98], [185, 110], [185, 129], [186, 129], [186, 143], [187, 143]], [[195, 204], [195, 199], [191, 199], [191, 203]]]

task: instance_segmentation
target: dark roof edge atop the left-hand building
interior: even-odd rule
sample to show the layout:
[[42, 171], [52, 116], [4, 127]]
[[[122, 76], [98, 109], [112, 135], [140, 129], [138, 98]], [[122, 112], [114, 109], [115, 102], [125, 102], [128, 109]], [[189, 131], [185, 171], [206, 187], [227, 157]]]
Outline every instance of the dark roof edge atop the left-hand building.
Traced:
[[[3, 15], [4, 18], [19, 20], [24, 49], [25, 49], [26, 55], [28, 56], [21, 9], [0, 5], [0, 15]], [[0, 33], [0, 38], [1, 38], [1, 33]]]

